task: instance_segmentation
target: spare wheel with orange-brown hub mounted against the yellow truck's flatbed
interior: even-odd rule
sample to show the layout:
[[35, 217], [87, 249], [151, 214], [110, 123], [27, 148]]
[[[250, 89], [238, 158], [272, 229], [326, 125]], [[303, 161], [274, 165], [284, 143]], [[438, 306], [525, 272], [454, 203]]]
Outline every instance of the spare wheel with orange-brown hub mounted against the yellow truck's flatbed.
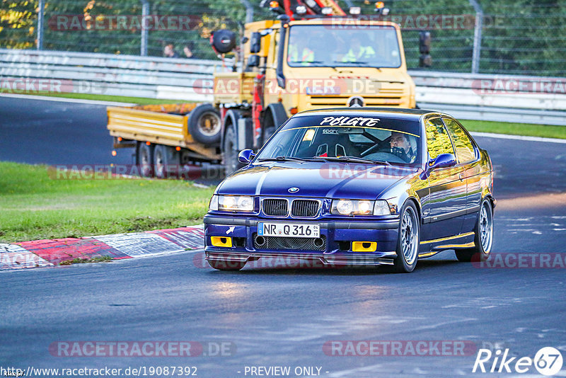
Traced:
[[220, 113], [209, 103], [198, 105], [189, 113], [188, 129], [193, 139], [202, 144], [220, 141]]

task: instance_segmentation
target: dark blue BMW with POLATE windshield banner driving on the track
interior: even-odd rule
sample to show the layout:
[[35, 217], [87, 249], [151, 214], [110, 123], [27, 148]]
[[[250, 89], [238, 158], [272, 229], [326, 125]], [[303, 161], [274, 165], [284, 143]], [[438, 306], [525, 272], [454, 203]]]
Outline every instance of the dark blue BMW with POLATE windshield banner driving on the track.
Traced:
[[287, 120], [216, 188], [205, 253], [219, 270], [265, 257], [390, 265], [443, 250], [485, 260], [493, 241], [487, 151], [450, 115], [335, 108]]

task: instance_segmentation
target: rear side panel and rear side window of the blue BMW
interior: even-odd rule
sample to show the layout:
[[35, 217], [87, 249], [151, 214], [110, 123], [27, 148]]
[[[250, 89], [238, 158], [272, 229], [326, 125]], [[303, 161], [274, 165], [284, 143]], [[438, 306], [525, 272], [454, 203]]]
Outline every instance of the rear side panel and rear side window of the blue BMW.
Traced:
[[456, 149], [456, 159], [458, 159], [458, 165], [463, 168], [464, 181], [466, 181], [466, 216], [462, 226], [462, 233], [466, 233], [473, 231], [480, 209], [483, 177], [480, 154], [458, 121], [448, 117], [443, 117], [442, 120]]

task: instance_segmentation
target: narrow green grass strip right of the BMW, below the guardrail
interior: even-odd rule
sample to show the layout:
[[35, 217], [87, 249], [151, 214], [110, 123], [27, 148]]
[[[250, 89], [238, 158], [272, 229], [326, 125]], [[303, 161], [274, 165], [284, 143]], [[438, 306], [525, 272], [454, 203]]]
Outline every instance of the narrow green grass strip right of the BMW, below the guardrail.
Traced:
[[566, 126], [534, 125], [531, 123], [459, 120], [468, 131], [496, 134], [525, 135], [529, 137], [566, 139]]

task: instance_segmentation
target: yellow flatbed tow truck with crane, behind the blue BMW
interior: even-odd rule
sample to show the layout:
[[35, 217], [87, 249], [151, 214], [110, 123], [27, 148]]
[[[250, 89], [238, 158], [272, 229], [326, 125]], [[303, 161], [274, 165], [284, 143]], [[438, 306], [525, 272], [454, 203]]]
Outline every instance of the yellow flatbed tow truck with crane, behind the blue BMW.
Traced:
[[381, 1], [371, 16], [358, 7], [347, 16], [333, 0], [263, 0], [262, 6], [277, 19], [247, 23], [239, 38], [230, 30], [213, 33], [216, 53], [232, 54], [239, 64], [214, 74], [212, 103], [179, 115], [108, 108], [115, 147], [137, 147], [137, 164], [147, 166], [148, 176], [163, 177], [163, 164], [190, 160], [222, 161], [231, 173], [240, 166], [238, 151], [259, 149], [303, 110], [415, 108], [400, 28], [380, 20]]

